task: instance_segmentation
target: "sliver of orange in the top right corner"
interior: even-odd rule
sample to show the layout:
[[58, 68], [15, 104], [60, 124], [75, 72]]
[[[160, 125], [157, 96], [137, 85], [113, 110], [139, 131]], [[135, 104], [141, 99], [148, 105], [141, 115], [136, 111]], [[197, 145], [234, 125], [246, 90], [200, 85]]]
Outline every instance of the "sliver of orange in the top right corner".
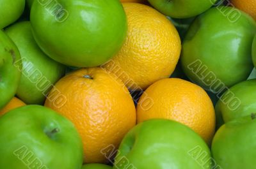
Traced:
[[242, 10], [251, 15], [256, 20], [256, 1], [255, 0], [231, 0], [233, 4], [239, 10]]

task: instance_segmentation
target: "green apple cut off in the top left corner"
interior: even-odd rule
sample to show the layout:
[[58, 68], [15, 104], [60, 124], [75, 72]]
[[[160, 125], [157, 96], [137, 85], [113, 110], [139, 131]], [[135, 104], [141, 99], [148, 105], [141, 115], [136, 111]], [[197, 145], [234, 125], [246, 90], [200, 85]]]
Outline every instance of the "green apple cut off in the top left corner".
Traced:
[[25, 0], [0, 0], [0, 4], [0, 29], [15, 22], [25, 8]]

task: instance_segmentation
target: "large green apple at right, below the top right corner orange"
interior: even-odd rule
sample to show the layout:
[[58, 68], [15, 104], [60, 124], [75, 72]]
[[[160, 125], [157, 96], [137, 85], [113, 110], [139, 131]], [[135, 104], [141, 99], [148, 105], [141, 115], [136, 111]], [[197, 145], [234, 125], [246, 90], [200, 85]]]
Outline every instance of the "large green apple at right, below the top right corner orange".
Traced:
[[[236, 22], [230, 22], [229, 15], [211, 8], [195, 19], [182, 43], [182, 69], [191, 81], [207, 90], [213, 82], [206, 82], [204, 78], [211, 71], [216, 79], [231, 87], [246, 80], [253, 69], [251, 53], [255, 21], [235, 8], [223, 7], [223, 11], [237, 11], [241, 16], [233, 19]], [[193, 71], [189, 65], [196, 61], [202, 64]]]

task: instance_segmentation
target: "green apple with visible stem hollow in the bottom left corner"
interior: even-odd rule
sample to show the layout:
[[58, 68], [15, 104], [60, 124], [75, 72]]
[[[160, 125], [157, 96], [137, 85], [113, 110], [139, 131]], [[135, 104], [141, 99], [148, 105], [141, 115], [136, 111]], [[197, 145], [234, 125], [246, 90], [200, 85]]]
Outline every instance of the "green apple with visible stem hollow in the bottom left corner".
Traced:
[[0, 168], [81, 169], [83, 145], [74, 124], [39, 105], [0, 117]]

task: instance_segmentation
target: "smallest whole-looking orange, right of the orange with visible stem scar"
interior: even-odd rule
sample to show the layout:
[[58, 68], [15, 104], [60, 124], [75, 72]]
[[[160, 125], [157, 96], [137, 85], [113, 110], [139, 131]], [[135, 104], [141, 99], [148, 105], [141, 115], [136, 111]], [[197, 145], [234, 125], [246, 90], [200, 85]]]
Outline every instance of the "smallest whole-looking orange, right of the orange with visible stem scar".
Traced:
[[[140, 102], [145, 96], [154, 103], [142, 107]], [[212, 101], [204, 89], [179, 78], [159, 80], [141, 96], [137, 105], [137, 121], [148, 119], [172, 119], [186, 124], [209, 144], [216, 121]]]

